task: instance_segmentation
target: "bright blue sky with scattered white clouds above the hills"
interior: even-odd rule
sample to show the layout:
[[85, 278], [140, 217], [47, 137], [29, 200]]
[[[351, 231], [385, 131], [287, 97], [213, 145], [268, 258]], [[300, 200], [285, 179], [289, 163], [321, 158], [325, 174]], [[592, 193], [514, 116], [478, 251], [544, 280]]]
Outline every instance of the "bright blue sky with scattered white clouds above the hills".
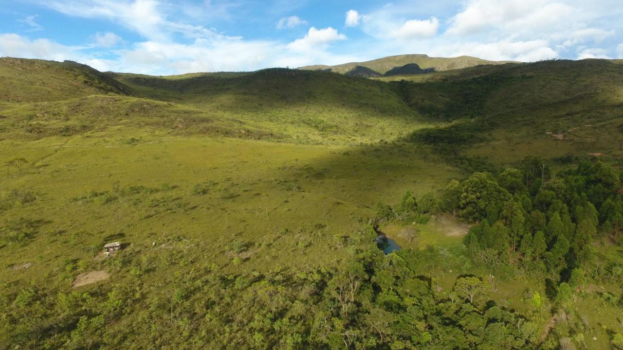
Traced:
[[388, 55], [623, 59], [621, 0], [0, 0], [0, 57], [169, 75]]

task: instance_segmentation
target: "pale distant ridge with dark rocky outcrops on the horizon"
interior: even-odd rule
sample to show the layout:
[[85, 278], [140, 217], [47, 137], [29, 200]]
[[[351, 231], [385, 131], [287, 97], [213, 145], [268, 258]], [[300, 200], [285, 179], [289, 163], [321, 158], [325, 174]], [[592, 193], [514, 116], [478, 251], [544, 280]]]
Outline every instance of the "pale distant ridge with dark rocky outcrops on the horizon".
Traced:
[[366, 62], [351, 62], [338, 65], [307, 65], [299, 69], [307, 70], [331, 70], [336, 73], [347, 73], [355, 69], [357, 66], [366, 67], [380, 74], [385, 74], [389, 70], [402, 67], [407, 64], [417, 64], [421, 69], [452, 70], [474, 67], [476, 65], [498, 65], [507, 63], [520, 63], [515, 61], [490, 61], [478, 59], [471, 56], [459, 57], [429, 57], [425, 54], [396, 55], [383, 57], [381, 59], [370, 60]]

